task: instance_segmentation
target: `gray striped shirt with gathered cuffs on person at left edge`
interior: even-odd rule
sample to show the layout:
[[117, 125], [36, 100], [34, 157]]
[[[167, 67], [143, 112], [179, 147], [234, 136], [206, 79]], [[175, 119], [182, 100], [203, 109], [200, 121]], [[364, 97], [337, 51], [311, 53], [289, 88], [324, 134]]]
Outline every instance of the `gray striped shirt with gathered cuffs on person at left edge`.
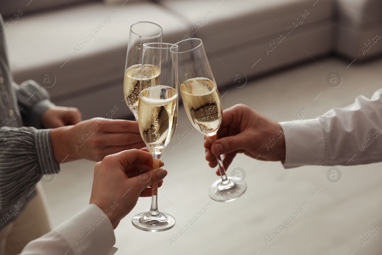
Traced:
[[[35, 81], [13, 81], [0, 15], [0, 230], [14, 221], [36, 196], [42, 176], [60, 171], [50, 142], [50, 129], [41, 127], [49, 94]], [[25, 126], [25, 127], [24, 127]]]

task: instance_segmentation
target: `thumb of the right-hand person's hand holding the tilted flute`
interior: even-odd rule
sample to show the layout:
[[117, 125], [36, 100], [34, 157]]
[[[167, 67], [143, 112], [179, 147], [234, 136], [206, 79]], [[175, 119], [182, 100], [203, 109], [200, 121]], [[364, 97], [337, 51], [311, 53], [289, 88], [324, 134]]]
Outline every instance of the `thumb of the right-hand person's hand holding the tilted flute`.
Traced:
[[249, 143], [248, 136], [244, 135], [244, 133], [227, 136], [216, 140], [211, 146], [211, 152], [214, 155], [227, 154], [238, 149], [246, 149]]

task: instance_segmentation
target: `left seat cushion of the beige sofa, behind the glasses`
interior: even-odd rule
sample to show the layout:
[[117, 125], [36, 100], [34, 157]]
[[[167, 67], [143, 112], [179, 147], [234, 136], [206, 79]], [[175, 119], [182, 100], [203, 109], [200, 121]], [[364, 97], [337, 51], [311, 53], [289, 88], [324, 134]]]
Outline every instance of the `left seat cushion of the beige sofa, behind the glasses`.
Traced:
[[[118, 13], [108, 18], [113, 10]], [[20, 16], [5, 32], [15, 81], [39, 81], [42, 73], [50, 71], [57, 78], [48, 88], [54, 99], [89, 93], [89, 89], [122, 79], [129, 28], [140, 20], [160, 24], [165, 42], [176, 42], [187, 30], [167, 9], [150, 2], [123, 6], [91, 3], [74, 10]], [[96, 34], [94, 29], [99, 25], [105, 26]], [[94, 38], [86, 39], [89, 34]], [[81, 40], [90, 42], [75, 50], [80, 49]]]

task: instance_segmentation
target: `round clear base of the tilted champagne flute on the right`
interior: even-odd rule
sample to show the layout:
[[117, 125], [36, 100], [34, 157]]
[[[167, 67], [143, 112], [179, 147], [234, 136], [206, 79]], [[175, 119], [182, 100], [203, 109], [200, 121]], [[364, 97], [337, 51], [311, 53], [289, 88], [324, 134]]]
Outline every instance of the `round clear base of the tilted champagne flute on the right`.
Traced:
[[210, 198], [217, 202], [229, 202], [241, 197], [246, 190], [246, 182], [237, 183], [231, 180], [231, 177], [228, 177], [228, 182], [225, 184], [222, 179], [214, 182], [208, 193]]

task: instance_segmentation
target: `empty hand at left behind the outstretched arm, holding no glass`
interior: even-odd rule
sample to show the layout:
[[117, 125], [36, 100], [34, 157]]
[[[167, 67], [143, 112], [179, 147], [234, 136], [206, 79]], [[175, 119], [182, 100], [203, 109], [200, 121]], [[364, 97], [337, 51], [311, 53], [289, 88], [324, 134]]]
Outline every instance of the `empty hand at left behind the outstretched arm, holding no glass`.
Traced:
[[81, 114], [74, 107], [53, 106], [47, 109], [41, 116], [41, 124], [44, 128], [76, 125], [81, 120]]

